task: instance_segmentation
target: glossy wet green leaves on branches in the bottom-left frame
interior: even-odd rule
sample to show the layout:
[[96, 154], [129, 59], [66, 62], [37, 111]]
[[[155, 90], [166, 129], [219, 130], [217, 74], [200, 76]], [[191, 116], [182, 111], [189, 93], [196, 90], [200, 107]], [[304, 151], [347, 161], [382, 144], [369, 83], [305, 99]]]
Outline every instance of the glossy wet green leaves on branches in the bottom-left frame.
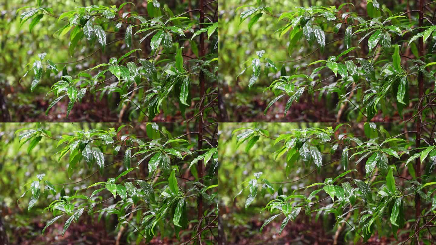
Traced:
[[[76, 129], [62, 136], [57, 135], [59, 129], [53, 130], [52, 135], [50, 125], [38, 123], [15, 133], [19, 146], [28, 145], [28, 154], [33, 154], [32, 149], [38, 149], [41, 142], [54, 144], [57, 153], [53, 155], [59, 162], [55, 164], [68, 163], [65, 164], [68, 177], [79, 179], [51, 184], [52, 174], [38, 174], [30, 179], [30, 185], [22, 185], [24, 194], [20, 198], [30, 195], [29, 212], [45, 207], [44, 211], [53, 214], [54, 218], [50, 218], [43, 232], [55, 221], [63, 220], [64, 235], [73, 222], [82, 222], [82, 214], [98, 215], [99, 219], [115, 214], [118, 225], [113, 232], [127, 225], [127, 237], [137, 241], [150, 242], [157, 234], [174, 236], [183, 242], [198, 235], [204, 241], [215, 236], [216, 228], [204, 229], [201, 233], [188, 229], [189, 223], [197, 224], [200, 230], [211, 224], [216, 227], [218, 148], [215, 136], [211, 136], [215, 147], [197, 149], [196, 137], [186, 140], [180, 129], [169, 131], [170, 124]], [[140, 128], [147, 129], [142, 131], [146, 135], [138, 132]], [[198, 155], [204, 158], [203, 169], [206, 169], [201, 177], [192, 170], [194, 167], [193, 174], [189, 174], [188, 167]], [[113, 170], [110, 166], [115, 164], [118, 169]], [[88, 176], [87, 169], [91, 171]], [[41, 171], [44, 170], [38, 170]], [[100, 176], [95, 181], [92, 177], [98, 173]], [[198, 199], [203, 200], [201, 221], [196, 219], [198, 214], [195, 213]], [[21, 205], [22, 200], [18, 203]], [[170, 220], [173, 222], [167, 222]], [[184, 232], [180, 233], [181, 230]]]

